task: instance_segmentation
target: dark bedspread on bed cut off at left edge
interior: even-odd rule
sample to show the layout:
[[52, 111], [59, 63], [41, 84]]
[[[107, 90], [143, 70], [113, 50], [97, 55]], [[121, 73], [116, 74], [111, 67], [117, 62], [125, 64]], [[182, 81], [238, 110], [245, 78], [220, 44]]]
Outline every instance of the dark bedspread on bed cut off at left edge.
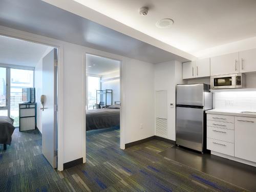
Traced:
[[11, 144], [14, 129], [12, 118], [0, 116], [0, 144]]

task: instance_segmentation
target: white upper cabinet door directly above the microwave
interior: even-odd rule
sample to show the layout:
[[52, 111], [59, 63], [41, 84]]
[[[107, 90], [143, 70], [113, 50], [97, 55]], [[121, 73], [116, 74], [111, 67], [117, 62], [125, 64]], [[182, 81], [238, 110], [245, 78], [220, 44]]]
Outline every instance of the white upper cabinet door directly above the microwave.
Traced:
[[239, 53], [210, 58], [210, 75], [239, 73]]

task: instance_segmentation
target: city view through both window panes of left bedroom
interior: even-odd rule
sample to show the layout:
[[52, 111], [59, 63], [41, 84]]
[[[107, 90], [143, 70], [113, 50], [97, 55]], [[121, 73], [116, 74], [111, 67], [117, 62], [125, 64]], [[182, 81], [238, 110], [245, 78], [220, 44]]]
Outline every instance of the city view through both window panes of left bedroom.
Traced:
[[[31, 70], [10, 70], [10, 117], [14, 119], [14, 126], [19, 126], [18, 103], [22, 103], [22, 88], [34, 86], [34, 73]], [[6, 68], [0, 68], [0, 115], [7, 116], [6, 107]]]

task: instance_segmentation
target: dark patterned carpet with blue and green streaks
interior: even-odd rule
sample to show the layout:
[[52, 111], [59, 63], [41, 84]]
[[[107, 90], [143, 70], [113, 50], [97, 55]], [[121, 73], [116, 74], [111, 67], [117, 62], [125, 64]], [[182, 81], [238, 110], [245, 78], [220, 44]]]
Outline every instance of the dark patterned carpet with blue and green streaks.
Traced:
[[37, 131], [14, 131], [0, 147], [0, 191], [246, 191], [166, 157], [172, 145], [151, 140], [119, 148], [119, 130], [87, 134], [87, 163], [56, 172], [41, 154]]

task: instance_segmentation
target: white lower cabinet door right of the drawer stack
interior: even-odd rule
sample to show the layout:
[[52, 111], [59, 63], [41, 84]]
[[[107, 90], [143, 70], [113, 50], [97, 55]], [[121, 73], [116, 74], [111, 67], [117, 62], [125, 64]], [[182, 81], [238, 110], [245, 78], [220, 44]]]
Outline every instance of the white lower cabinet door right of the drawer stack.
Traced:
[[256, 118], [234, 117], [234, 156], [256, 162]]

